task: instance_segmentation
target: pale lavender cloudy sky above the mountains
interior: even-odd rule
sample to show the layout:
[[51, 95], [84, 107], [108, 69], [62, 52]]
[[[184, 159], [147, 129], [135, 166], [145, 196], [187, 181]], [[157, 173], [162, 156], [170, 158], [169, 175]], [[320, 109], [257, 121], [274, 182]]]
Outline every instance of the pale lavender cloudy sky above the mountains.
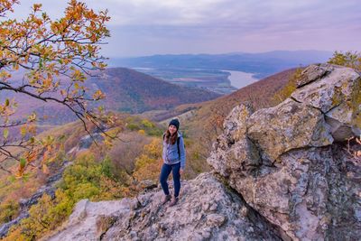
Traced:
[[[110, 58], [153, 54], [264, 51], [361, 51], [359, 0], [83, 0], [109, 11]], [[34, 3], [60, 18], [67, 1]]]

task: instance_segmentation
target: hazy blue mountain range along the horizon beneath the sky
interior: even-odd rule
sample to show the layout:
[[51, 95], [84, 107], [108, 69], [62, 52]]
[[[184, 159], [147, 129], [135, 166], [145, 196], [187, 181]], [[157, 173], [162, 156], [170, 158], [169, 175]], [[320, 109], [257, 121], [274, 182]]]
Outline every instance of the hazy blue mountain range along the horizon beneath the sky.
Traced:
[[157, 69], [238, 70], [258, 79], [282, 70], [325, 62], [330, 51], [269, 51], [263, 53], [167, 54], [109, 60], [110, 66]]

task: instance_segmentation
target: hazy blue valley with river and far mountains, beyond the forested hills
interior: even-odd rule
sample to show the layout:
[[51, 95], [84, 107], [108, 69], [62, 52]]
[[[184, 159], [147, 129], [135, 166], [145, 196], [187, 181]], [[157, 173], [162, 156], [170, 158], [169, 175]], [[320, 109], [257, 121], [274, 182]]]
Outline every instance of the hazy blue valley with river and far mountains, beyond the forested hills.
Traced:
[[263, 53], [166, 54], [113, 58], [109, 66], [124, 66], [183, 87], [228, 95], [259, 79], [329, 59], [329, 51], [269, 51]]

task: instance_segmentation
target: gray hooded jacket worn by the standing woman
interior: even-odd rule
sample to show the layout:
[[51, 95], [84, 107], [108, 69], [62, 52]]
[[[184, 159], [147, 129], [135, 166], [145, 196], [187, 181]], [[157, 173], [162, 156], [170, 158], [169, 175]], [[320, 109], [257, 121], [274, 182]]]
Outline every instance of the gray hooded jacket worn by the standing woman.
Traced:
[[184, 148], [184, 140], [180, 132], [178, 132], [177, 134], [178, 137], [180, 137], [180, 155], [178, 154], [177, 142], [175, 142], [175, 144], [167, 144], [164, 138], [162, 158], [163, 162], [166, 164], [176, 164], [180, 162], [180, 168], [184, 169], [184, 167], [186, 166], [186, 152]]

